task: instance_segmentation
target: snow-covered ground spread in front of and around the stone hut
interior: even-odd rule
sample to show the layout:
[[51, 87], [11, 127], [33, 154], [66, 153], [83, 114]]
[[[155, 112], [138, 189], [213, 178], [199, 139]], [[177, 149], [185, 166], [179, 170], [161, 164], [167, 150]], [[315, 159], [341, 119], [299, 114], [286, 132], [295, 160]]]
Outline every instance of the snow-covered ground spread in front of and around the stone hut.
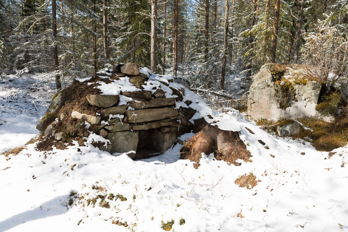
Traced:
[[[38, 134], [36, 123], [54, 94], [43, 75], [17, 78], [0, 81], [0, 152]], [[329, 157], [307, 142], [275, 138], [237, 111], [217, 117], [220, 128], [241, 129], [253, 162], [229, 166], [202, 155], [194, 169], [179, 159], [180, 144], [137, 161], [77, 143], [50, 152], [30, 144], [16, 156], [0, 155], [0, 231], [152, 232], [172, 220], [179, 232], [348, 230], [348, 146]], [[250, 190], [235, 184], [248, 173], [260, 180]], [[119, 194], [102, 202], [110, 208], [100, 199], [93, 207], [97, 195], [110, 193]]]

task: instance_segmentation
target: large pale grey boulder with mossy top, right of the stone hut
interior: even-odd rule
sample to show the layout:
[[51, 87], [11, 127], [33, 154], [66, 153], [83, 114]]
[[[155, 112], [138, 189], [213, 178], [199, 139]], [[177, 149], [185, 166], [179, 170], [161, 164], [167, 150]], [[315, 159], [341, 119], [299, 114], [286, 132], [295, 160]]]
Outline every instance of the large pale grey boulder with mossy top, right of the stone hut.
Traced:
[[315, 110], [321, 90], [322, 84], [303, 65], [264, 64], [250, 87], [248, 113], [253, 120], [320, 117], [331, 121], [332, 116]]

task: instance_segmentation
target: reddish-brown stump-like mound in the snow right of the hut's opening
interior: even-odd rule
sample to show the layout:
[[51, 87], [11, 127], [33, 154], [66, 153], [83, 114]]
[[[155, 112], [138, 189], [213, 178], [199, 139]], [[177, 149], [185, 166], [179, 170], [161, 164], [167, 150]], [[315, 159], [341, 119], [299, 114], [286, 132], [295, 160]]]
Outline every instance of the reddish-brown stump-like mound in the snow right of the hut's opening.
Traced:
[[235, 161], [242, 159], [252, 162], [252, 157], [246, 149], [245, 144], [239, 138], [238, 131], [226, 131], [211, 125], [205, 126], [195, 136], [190, 138], [181, 149], [181, 159], [189, 159], [196, 162], [194, 167], [199, 167], [201, 153], [214, 153], [217, 160], [224, 160], [234, 165], [238, 165]]

